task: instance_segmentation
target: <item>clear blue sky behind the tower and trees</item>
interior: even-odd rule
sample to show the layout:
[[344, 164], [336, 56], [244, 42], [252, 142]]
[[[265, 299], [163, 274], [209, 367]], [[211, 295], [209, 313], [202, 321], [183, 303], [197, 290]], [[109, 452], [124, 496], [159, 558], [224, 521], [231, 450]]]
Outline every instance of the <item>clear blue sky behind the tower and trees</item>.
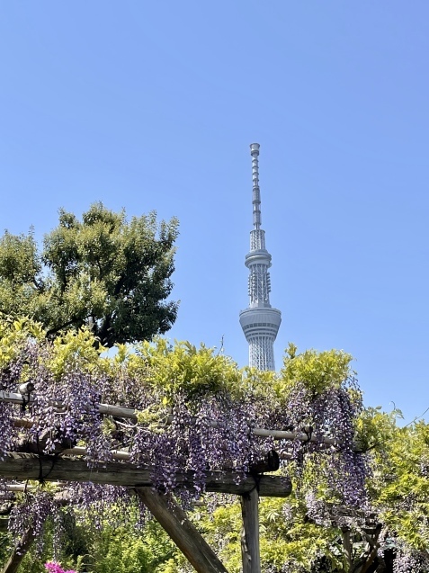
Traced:
[[429, 4], [0, 4], [0, 229], [93, 201], [181, 222], [172, 338], [244, 365], [249, 144], [288, 341], [373, 406], [429, 407]]

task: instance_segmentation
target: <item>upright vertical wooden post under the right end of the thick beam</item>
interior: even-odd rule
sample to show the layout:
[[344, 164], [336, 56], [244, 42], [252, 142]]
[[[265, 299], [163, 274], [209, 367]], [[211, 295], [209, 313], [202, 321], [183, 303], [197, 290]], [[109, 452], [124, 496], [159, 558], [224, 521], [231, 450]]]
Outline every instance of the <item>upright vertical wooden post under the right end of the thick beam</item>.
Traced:
[[259, 554], [259, 494], [254, 488], [240, 497], [243, 532], [241, 534], [241, 556], [243, 573], [261, 573]]

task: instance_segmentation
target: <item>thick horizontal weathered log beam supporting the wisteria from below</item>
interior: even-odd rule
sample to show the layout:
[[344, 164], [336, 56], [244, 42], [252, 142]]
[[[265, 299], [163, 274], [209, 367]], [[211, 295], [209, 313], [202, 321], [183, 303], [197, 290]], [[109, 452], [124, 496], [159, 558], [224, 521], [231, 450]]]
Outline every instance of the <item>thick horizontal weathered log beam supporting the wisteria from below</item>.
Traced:
[[[0, 476], [6, 479], [41, 479], [45, 481], [91, 481], [97, 484], [131, 488], [152, 487], [151, 468], [138, 468], [131, 463], [112, 461], [104, 467], [90, 469], [86, 461], [59, 456], [43, 456], [34, 453], [10, 452], [0, 461]], [[192, 488], [192, 472], [176, 476], [178, 488]], [[283, 476], [258, 476], [259, 495], [287, 497], [290, 495], [290, 479]], [[247, 476], [238, 479], [235, 471], [208, 471], [206, 491], [242, 496], [256, 487], [255, 479]]]

